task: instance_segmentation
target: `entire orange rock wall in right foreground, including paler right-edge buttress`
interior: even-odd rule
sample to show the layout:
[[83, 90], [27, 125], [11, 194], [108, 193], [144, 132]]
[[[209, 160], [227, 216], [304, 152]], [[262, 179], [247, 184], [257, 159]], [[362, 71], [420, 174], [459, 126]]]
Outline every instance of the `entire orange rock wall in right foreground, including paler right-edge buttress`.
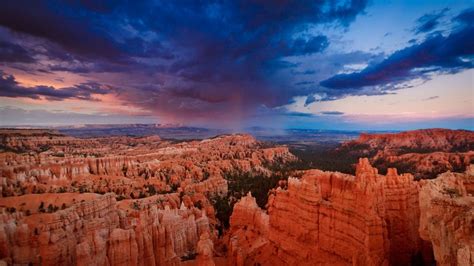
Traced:
[[[361, 159], [356, 175], [290, 178], [268, 211], [251, 194], [235, 206], [233, 265], [473, 265], [474, 167], [414, 181]], [[434, 255], [432, 253], [434, 251]]]

